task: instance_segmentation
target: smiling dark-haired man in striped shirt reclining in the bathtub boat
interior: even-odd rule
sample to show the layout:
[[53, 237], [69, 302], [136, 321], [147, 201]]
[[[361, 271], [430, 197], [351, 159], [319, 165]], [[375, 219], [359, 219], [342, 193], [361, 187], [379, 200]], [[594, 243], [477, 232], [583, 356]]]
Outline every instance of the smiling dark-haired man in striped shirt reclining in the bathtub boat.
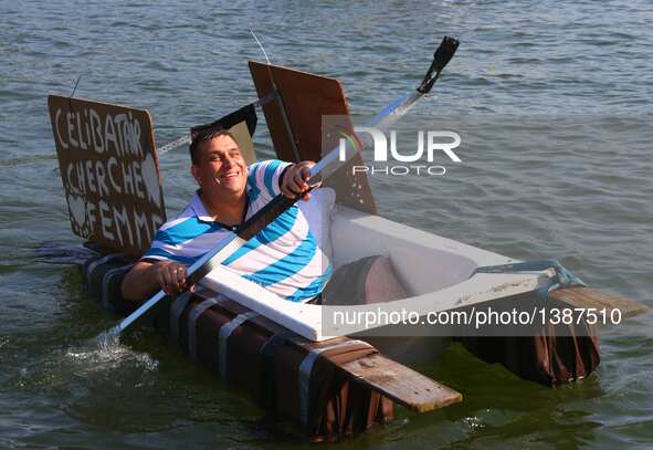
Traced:
[[[247, 167], [229, 132], [200, 132], [191, 142], [190, 155], [199, 189], [188, 207], [157, 231], [150, 249], [127, 273], [122, 285], [125, 299], [144, 300], [161, 289], [179, 292], [190, 264], [280, 192], [304, 200], [310, 197], [306, 181], [314, 163], [267, 160]], [[223, 265], [294, 302], [317, 296], [331, 271], [296, 205]]]

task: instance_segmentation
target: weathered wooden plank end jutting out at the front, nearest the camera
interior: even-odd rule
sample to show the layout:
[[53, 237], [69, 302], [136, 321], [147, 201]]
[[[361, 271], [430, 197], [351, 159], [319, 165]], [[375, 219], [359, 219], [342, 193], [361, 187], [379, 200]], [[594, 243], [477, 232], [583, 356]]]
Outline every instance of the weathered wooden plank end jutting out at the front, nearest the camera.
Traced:
[[381, 354], [343, 364], [340, 369], [413, 411], [431, 411], [463, 400], [461, 393]]

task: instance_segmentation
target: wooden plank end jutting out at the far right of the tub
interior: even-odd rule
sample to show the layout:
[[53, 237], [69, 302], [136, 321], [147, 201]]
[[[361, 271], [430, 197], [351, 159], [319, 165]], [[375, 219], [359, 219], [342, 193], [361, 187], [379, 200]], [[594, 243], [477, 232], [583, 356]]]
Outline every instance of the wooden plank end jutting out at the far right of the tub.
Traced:
[[554, 291], [549, 297], [568, 303], [573, 307], [621, 311], [622, 317], [632, 317], [651, 311], [643, 303], [622, 297], [617, 294], [608, 294], [592, 287], [566, 287]]

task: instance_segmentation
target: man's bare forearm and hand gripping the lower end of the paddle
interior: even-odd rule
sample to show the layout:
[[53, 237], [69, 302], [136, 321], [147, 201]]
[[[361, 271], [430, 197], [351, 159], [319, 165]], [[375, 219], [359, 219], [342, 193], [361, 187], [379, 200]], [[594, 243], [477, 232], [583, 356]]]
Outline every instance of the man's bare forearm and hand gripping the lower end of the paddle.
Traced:
[[159, 290], [171, 294], [181, 291], [185, 285], [183, 264], [172, 261], [139, 261], [123, 279], [120, 291], [126, 300], [141, 301]]

